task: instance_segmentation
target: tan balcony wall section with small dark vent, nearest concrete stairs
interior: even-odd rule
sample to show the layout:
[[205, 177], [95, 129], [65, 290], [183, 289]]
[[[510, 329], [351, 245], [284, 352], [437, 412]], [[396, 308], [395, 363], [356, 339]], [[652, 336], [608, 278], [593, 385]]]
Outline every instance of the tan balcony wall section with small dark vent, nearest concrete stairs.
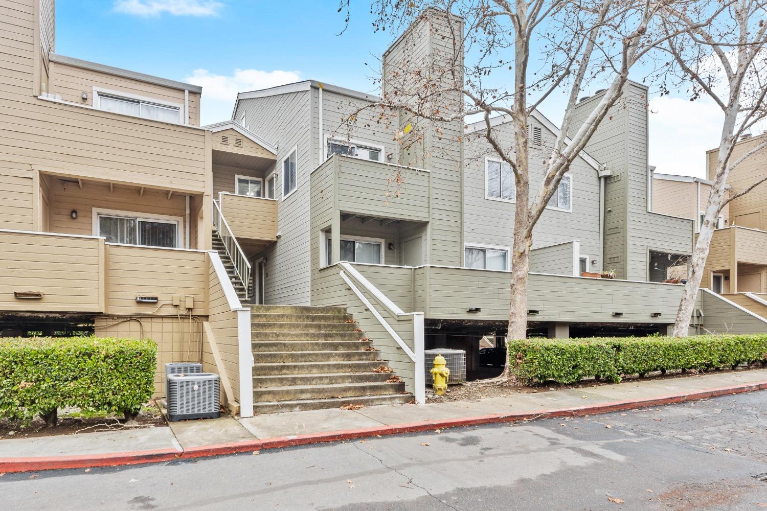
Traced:
[[[193, 315], [205, 314], [206, 260], [205, 252], [107, 244], [107, 313], [176, 314], [173, 296], [193, 296]], [[159, 301], [136, 303], [136, 296]]]

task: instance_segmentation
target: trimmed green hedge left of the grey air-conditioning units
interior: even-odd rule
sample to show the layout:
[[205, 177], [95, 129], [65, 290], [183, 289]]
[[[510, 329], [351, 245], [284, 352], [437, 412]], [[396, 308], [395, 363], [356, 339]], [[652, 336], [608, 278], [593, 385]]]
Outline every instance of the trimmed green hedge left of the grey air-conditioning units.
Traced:
[[136, 413], [154, 392], [156, 351], [149, 339], [0, 338], [0, 418], [55, 421], [65, 406]]

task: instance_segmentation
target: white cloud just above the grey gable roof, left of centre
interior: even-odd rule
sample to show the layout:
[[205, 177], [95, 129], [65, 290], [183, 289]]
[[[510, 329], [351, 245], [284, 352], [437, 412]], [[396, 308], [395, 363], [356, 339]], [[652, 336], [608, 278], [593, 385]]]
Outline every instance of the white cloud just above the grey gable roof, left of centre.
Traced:
[[185, 78], [202, 87], [202, 122], [216, 123], [231, 119], [237, 93], [291, 84], [301, 80], [298, 71], [235, 69], [231, 75], [212, 74], [196, 69]]

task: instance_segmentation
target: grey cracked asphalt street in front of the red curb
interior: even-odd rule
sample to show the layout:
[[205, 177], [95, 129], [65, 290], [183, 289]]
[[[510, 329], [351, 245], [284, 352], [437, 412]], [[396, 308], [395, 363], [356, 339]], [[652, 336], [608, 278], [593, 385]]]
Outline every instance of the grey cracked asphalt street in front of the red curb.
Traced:
[[0, 509], [767, 509], [767, 391], [137, 467], [0, 477]]

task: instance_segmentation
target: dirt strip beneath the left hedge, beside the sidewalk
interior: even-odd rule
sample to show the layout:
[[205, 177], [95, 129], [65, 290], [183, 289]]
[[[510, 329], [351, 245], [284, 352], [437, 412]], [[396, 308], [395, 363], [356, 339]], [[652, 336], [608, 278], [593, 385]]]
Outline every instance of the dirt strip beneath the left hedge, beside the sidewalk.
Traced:
[[41, 418], [35, 418], [27, 427], [21, 427], [7, 419], [0, 420], [0, 440], [117, 431], [166, 424], [160, 408], [157, 408], [154, 401], [150, 401], [141, 408], [136, 421], [138, 422], [136, 426], [125, 426], [122, 415], [84, 413], [77, 408], [61, 408], [58, 411], [58, 424], [48, 429], [45, 429], [45, 423]]

